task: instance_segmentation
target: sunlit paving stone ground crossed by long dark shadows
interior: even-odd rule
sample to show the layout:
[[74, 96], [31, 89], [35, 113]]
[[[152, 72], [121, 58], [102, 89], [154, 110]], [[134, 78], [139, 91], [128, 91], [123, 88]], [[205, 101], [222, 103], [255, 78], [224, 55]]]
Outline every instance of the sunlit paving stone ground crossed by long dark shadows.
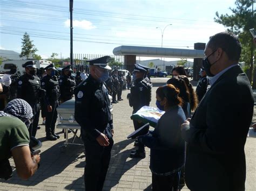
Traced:
[[[152, 79], [151, 106], [156, 107], [157, 86], [167, 79]], [[106, 176], [104, 190], [151, 190], [151, 172], [149, 169], [149, 148], [146, 148], [145, 159], [131, 159], [129, 154], [133, 141], [126, 139], [133, 131], [130, 119], [132, 108], [126, 100], [130, 90], [123, 91], [123, 101], [113, 106], [114, 146], [109, 171]], [[256, 107], [254, 107], [253, 122], [256, 123]], [[42, 120], [40, 121], [40, 124]], [[41, 148], [41, 167], [29, 180], [21, 180], [16, 172], [12, 179], [0, 181], [0, 190], [84, 190], [84, 147], [68, 145], [64, 152], [59, 146], [64, 142], [64, 135], [57, 130], [60, 139], [51, 142], [45, 139], [45, 127], [37, 132], [37, 138], [43, 142]], [[80, 140], [76, 140], [77, 143]], [[246, 190], [256, 190], [256, 136], [248, 137], [246, 152]], [[11, 164], [14, 162], [10, 160]], [[183, 190], [188, 190], [186, 187]]]

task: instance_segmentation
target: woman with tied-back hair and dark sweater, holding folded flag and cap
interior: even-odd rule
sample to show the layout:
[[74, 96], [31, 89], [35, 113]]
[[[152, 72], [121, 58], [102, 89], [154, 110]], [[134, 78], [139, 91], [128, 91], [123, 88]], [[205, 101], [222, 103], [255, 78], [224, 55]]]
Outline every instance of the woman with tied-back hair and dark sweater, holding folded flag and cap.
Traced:
[[180, 125], [186, 120], [179, 90], [172, 84], [157, 89], [157, 107], [165, 114], [154, 131], [138, 139], [150, 148], [150, 169], [153, 191], [173, 190], [179, 187], [181, 168], [185, 162], [185, 142]]

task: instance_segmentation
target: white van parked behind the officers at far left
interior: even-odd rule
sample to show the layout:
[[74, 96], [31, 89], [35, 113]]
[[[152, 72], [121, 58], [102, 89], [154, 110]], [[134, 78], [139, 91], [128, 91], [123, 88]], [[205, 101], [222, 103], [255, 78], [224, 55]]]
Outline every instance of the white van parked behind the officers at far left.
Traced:
[[[21, 74], [25, 74], [25, 68], [22, 67], [23, 63], [31, 60], [8, 60], [2, 61], [0, 65], [0, 73], [6, 73], [10, 71], [11, 66], [16, 65], [17, 71], [21, 72]], [[39, 69], [41, 67], [45, 68], [46, 66], [51, 64], [51, 61], [48, 60], [33, 60], [36, 63], [36, 67]]]

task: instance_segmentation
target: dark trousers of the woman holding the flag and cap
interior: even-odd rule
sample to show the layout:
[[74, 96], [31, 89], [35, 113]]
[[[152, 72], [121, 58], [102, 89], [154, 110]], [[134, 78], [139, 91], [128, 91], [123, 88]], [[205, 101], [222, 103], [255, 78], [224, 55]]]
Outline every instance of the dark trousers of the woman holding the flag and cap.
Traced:
[[178, 191], [180, 171], [168, 176], [152, 174], [153, 191]]

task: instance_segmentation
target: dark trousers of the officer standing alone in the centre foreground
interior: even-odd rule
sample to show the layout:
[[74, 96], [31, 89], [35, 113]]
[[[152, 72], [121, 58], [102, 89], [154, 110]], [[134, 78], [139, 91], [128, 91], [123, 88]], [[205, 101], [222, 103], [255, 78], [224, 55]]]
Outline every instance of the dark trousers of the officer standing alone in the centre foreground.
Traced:
[[113, 139], [109, 138], [109, 146], [100, 146], [96, 140], [83, 138], [86, 164], [84, 167], [84, 183], [87, 191], [101, 191], [106, 178], [111, 157]]

